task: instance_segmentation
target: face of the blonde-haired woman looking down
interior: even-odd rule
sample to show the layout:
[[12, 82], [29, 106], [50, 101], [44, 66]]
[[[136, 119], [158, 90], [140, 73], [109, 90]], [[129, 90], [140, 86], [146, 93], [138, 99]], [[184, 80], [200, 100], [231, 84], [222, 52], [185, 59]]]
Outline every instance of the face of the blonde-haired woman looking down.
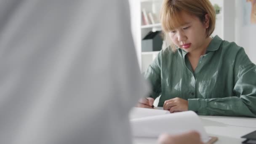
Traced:
[[184, 24], [169, 32], [172, 42], [188, 53], [204, 48], [206, 29], [209, 27], [208, 15], [205, 15], [204, 23], [197, 16], [185, 12], [181, 12], [181, 19], [183, 19]]

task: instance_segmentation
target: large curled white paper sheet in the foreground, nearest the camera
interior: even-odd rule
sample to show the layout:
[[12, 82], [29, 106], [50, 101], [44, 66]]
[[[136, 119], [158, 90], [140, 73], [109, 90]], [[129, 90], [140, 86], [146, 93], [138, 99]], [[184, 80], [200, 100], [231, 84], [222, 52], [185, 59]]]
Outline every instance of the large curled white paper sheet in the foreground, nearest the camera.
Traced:
[[193, 111], [134, 118], [131, 126], [135, 137], [157, 138], [161, 133], [176, 135], [194, 130], [200, 133], [203, 142], [209, 140], [200, 118]]

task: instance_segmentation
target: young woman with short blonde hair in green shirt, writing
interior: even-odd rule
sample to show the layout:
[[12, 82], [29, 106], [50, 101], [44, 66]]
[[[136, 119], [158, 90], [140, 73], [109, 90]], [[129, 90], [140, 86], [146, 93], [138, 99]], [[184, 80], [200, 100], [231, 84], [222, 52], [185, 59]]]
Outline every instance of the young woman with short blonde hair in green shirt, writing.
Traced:
[[209, 0], [164, 0], [161, 23], [170, 46], [145, 72], [152, 85], [138, 107], [199, 115], [256, 117], [256, 66], [242, 47], [210, 37], [215, 11]]

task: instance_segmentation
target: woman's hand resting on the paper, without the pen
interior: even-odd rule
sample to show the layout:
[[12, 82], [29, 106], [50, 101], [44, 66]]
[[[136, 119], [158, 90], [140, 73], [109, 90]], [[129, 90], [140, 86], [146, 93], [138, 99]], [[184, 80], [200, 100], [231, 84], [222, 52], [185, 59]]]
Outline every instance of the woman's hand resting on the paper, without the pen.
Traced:
[[166, 100], [163, 104], [164, 110], [169, 110], [171, 113], [173, 112], [182, 112], [188, 110], [188, 101], [181, 98], [174, 98]]

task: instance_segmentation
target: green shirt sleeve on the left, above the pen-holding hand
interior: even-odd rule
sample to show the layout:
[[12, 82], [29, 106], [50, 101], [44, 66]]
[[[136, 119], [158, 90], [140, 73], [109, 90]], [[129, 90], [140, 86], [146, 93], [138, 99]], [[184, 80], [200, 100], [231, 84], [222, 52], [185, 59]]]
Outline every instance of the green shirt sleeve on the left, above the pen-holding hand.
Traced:
[[145, 79], [149, 82], [151, 85], [151, 93], [149, 97], [152, 97], [153, 99], [156, 99], [162, 92], [161, 87], [161, 59], [162, 59], [162, 53], [163, 51], [160, 51], [155, 58], [155, 60], [152, 62], [152, 64], [149, 65], [146, 72], [144, 73]]

